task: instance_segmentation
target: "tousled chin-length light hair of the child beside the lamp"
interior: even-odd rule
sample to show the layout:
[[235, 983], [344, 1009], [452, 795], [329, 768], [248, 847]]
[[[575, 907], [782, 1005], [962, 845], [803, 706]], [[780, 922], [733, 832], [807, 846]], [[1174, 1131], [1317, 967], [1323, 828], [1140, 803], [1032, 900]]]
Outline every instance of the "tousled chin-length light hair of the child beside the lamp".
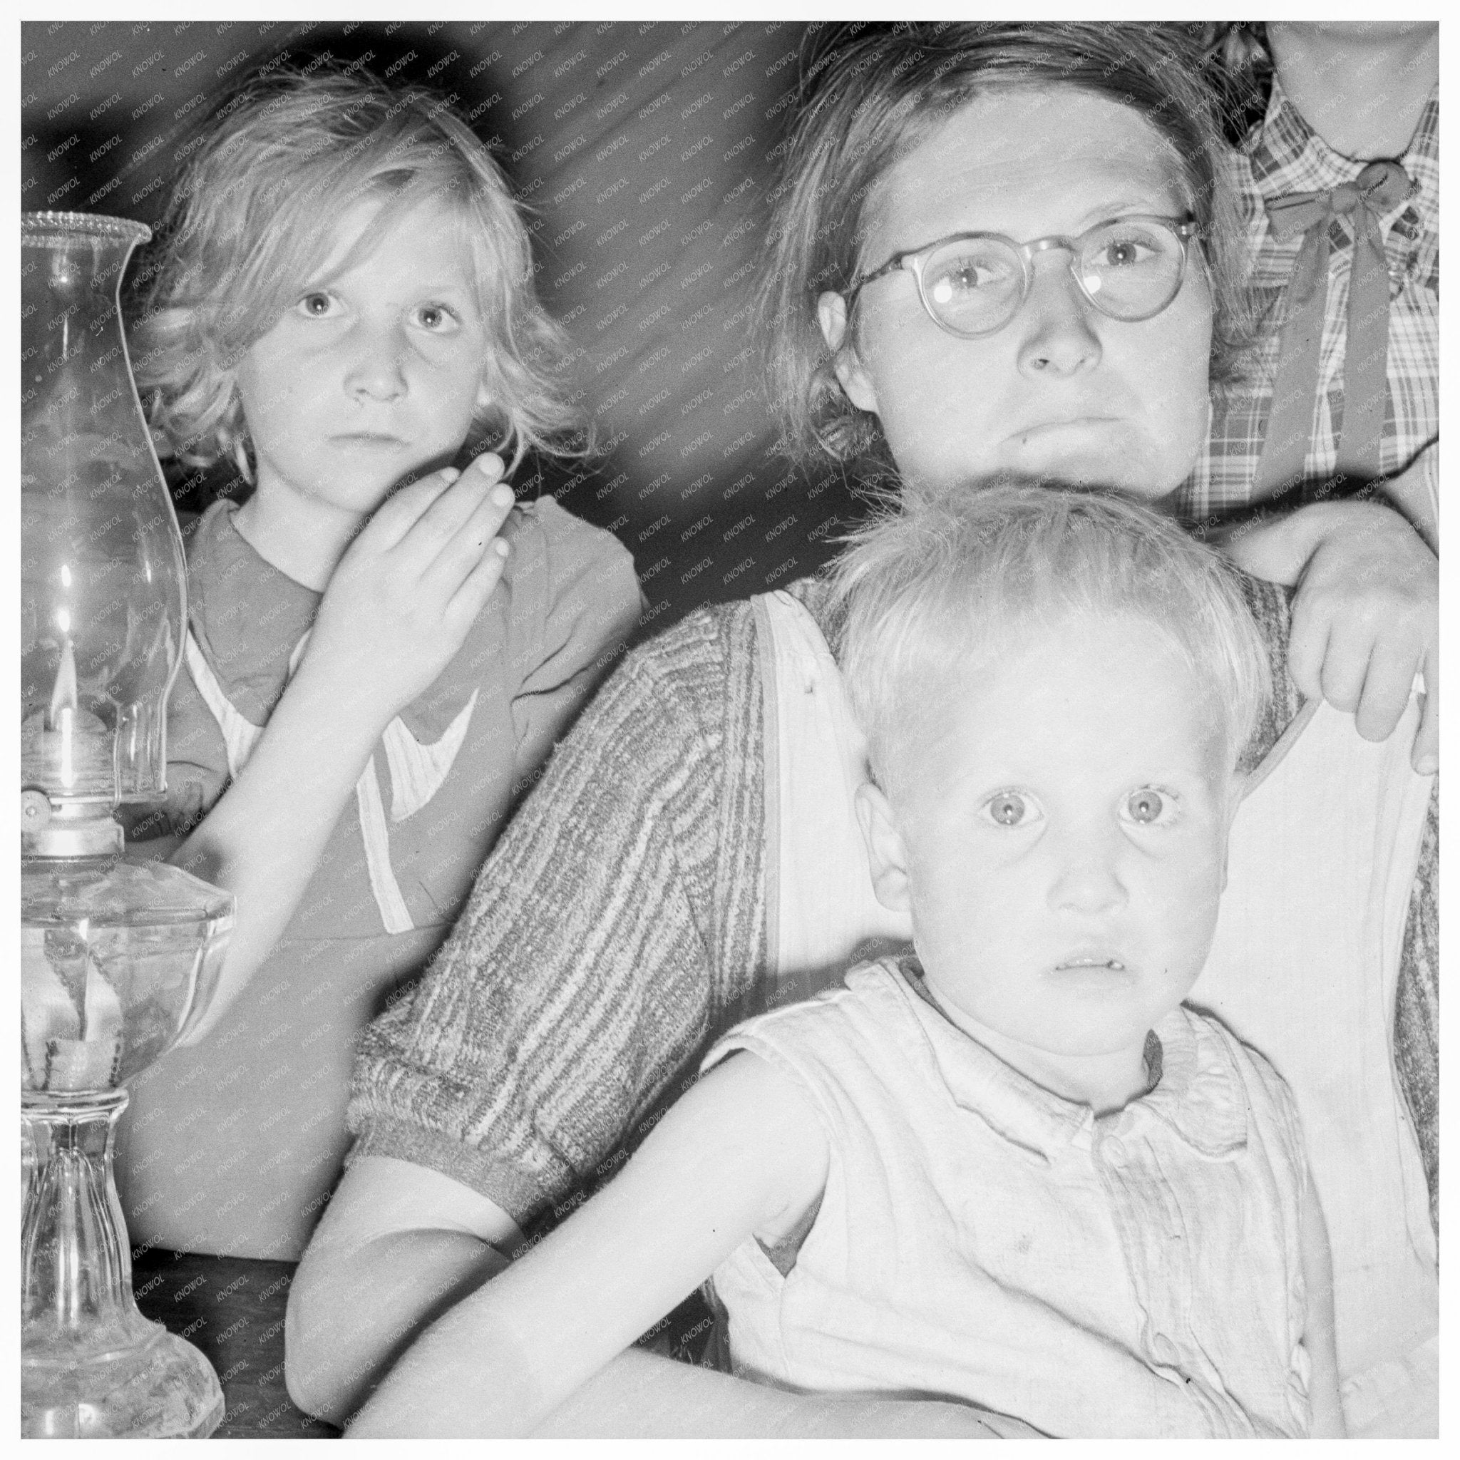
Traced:
[[193, 466], [245, 477], [234, 369], [310, 282], [359, 197], [380, 237], [412, 207], [454, 212], [491, 347], [474, 450], [581, 456], [571, 345], [533, 289], [531, 241], [502, 169], [445, 101], [365, 73], [277, 69], [245, 82], [194, 137], [140, 270], [133, 368], [152, 425]]

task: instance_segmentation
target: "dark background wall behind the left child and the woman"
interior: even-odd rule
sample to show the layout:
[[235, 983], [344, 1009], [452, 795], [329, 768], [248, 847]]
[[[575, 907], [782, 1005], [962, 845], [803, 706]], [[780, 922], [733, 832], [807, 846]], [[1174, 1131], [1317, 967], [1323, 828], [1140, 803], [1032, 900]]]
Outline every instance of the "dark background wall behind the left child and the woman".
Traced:
[[[642, 632], [815, 569], [856, 512], [842, 473], [775, 451], [750, 350], [753, 256], [806, 26], [764, 22], [25, 22], [20, 206], [153, 223], [239, 76], [328, 58], [453, 99], [531, 209], [537, 291], [572, 334], [607, 448], [524, 463], [615, 531]], [[180, 510], [241, 483], [169, 473]]]

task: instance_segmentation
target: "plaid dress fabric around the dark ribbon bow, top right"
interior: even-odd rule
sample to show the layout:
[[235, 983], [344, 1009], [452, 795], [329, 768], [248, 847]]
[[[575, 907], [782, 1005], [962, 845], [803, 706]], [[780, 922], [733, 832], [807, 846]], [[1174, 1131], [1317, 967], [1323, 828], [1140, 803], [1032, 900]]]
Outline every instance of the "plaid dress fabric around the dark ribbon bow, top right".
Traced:
[[[1380, 220], [1390, 270], [1388, 399], [1380, 470], [1390, 476], [1410, 466], [1440, 439], [1440, 95], [1399, 159], [1416, 184], [1407, 201]], [[1177, 495], [1178, 511], [1196, 521], [1231, 515], [1248, 505], [1257, 458], [1267, 434], [1283, 293], [1302, 247], [1298, 234], [1279, 242], [1267, 225], [1266, 204], [1292, 193], [1313, 193], [1352, 182], [1364, 171], [1334, 152], [1302, 120], [1273, 77], [1261, 127], [1232, 153], [1232, 181], [1241, 199], [1260, 318], [1269, 323], [1244, 378], [1216, 391], [1206, 456]], [[1332, 491], [1343, 428], [1343, 356], [1348, 336], [1349, 274], [1353, 264], [1350, 220], [1330, 225], [1329, 293], [1320, 346], [1313, 434], [1304, 460], [1301, 498], [1318, 501]], [[1431, 453], [1431, 457], [1434, 453]]]

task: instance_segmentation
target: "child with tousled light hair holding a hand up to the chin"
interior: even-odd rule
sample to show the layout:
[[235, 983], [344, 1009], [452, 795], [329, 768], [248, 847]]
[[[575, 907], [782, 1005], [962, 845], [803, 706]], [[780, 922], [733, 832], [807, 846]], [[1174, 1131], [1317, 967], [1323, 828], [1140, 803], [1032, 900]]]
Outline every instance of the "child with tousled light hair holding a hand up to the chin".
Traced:
[[237, 927], [203, 1042], [133, 1088], [123, 1184], [133, 1240], [298, 1257], [356, 1032], [445, 937], [641, 596], [612, 536], [512, 505], [527, 451], [575, 450], [568, 342], [439, 98], [251, 82], [152, 269], [153, 428], [253, 492], [191, 531], [168, 718], [172, 860], [237, 895]]

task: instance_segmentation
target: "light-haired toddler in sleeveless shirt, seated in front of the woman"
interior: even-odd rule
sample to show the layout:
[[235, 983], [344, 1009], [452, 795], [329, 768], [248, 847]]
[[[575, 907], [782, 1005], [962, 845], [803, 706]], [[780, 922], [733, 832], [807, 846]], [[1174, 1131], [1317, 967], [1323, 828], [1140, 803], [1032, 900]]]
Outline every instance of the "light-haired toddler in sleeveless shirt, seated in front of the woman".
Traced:
[[1183, 1004], [1269, 692], [1242, 599], [1117, 498], [904, 502], [841, 562], [841, 663], [915, 953], [721, 1040], [418, 1340], [404, 1365], [491, 1336], [444, 1432], [529, 1432], [711, 1275], [734, 1367], [780, 1386], [962, 1400], [990, 1434], [1343, 1432], [1292, 1096]]

